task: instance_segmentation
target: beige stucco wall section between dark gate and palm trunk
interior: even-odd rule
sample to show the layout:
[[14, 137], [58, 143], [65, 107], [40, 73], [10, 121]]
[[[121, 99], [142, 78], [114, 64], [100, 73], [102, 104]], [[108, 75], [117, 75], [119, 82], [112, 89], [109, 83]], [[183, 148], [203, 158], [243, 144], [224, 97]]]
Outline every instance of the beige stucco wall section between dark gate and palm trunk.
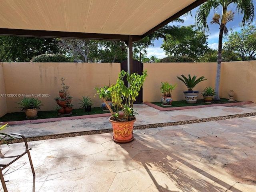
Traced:
[[[177, 76], [196, 77], [204, 76], [207, 80], [200, 82], [193, 90], [202, 91], [206, 86], [215, 86], [216, 63], [144, 63], [144, 69], [148, 70], [148, 77], [143, 87], [143, 102], [160, 102], [162, 93], [160, 90], [161, 82], [178, 84], [172, 90], [173, 100], [184, 100], [184, 90], [188, 90], [185, 84]], [[199, 99], [202, 98], [199, 94]]]

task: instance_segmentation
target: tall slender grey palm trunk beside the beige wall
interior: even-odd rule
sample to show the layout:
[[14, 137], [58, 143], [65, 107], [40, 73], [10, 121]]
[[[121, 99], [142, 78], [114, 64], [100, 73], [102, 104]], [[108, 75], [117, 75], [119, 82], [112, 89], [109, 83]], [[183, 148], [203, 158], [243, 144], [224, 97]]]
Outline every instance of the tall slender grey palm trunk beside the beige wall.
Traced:
[[219, 90], [220, 90], [220, 68], [221, 68], [221, 60], [222, 60], [222, 38], [224, 32], [225, 24], [220, 25], [220, 34], [219, 34], [219, 42], [218, 42], [218, 59], [217, 59], [217, 73], [215, 79], [215, 92], [214, 100], [220, 100]]

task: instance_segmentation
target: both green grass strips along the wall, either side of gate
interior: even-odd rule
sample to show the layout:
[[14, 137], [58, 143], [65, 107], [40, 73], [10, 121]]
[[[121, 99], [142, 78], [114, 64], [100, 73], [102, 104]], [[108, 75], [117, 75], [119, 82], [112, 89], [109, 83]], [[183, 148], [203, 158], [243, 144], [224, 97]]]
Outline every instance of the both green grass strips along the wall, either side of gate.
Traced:
[[[237, 102], [237, 101], [236, 101]], [[213, 102], [213, 104], [219, 104], [219, 103], [234, 103], [228, 101], [228, 99], [223, 99], [219, 102]], [[161, 102], [154, 102], [153, 104], [161, 106], [161, 107], [166, 107], [162, 106]], [[168, 107], [182, 107], [182, 106], [195, 106], [195, 105], [210, 105], [204, 103], [204, 100], [197, 100], [195, 104], [188, 104], [186, 101], [173, 101], [172, 106]], [[94, 107], [92, 108], [91, 112], [85, 112], [84, 109], [73, 109], [72, 114], [67, 115], [65, 117], [70, 117], [70, 116], [81, 116], [81, 115], [91, 115], [91, 114], [102, 114], [102, 113], [109, 113], [106, 111], [103, 111], [101, 107]], [[57, 111], [38, 111], [37, 114], [37, 119], [47, 119], [47, 118], [57, 118], [57, 117], [63, 117], [59, 116]], [[7, 113], [4, 116], [0, 118], [0, 122], [6, 122], [6, 121], [22, 121], [22, 120], [28, 120], [26, 119], [25, 112], [15, 112], [15, 113]]]

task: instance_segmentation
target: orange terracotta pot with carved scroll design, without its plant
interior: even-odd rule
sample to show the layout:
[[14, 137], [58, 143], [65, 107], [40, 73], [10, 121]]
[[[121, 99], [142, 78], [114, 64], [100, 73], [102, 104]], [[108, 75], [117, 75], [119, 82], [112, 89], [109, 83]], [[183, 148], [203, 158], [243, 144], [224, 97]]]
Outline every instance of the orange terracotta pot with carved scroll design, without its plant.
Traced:
[[118, 122], [114, 121], [114, 118], [110, 118], [110, 122], [112, 123], [112, 128], [113, 128], [113, 140], [116, 142], [130, 142], [134, 139], [132, 132], [133, 132], [133, 125], [134, 122], [136, 121], [136, 118], [131, 121], [123, 121], [123, 122]]

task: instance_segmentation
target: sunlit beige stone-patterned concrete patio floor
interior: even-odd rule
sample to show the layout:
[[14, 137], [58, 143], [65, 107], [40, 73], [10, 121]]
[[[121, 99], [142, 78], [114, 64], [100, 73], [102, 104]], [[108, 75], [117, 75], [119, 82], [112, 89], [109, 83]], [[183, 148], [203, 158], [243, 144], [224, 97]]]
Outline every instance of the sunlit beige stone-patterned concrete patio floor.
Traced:
[[[159, 111], [136, 105], [135, 126], [256, 112], [256, 104]], [[11, 125], [26, 137], [111, 128], [108, 117]], [[256, 192], [256, 116], [32, 141], [4, 172], [10, 192]], [[20, 143], [10, 144], [18, 147]], [[3, 191], [1, 188], [0, 191]]]

